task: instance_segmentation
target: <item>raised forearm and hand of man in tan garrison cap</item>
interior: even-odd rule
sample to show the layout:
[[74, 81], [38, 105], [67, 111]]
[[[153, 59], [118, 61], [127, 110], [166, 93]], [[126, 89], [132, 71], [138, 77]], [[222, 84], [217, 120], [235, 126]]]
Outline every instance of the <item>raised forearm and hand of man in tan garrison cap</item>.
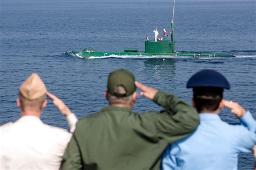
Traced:
[[58, 97], [52, 95], [49, 92], [47, 92], [46, 95], [52, 100], [52, 103], [57, 107], [60, 114], [66, 117], [66, 120], [68, 121], [68, 125], [70, 128], [70, 132], [73, 133], [76, 129], [76, 123], [78, 121], [76, 115], [73, 114], [71, 110], [66, 106], [66, 104]]

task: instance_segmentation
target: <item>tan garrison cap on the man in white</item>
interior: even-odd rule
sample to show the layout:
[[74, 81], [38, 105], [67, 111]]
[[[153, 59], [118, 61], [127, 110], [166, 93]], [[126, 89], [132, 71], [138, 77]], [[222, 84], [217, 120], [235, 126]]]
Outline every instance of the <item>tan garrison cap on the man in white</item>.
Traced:
[[47, 92], [47, 89], [40, 77], [36, 73], [33, 73], [26, 79], [26, 81], [24, 81], [21, 87], [19, 87], [19, 91], [22, 96], [28, 100], [35, 100], [36, 98], [43, 96]]

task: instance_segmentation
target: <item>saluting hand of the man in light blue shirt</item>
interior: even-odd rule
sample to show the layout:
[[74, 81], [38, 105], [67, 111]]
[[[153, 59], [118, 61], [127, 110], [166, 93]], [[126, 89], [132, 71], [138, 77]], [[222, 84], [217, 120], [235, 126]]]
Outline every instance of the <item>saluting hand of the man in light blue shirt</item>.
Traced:
[[231, 112], [237, 116], [238, 118], [241, 118], [246, 114], [246, 110], [241, 107], [240, 104], [233, 101], [226, 101], [224, 100], [224, 106], [231, 109]]

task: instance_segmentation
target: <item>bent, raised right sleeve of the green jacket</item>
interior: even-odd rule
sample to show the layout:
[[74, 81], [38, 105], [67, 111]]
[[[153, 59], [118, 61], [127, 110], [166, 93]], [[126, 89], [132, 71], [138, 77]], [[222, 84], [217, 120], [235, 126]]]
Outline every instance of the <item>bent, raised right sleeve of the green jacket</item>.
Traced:
[[198, 112], [174, 95], [158, 91], [153, 101], [166, 109], [156, 115], [154, 124], [158, 137], [168, 143], [185, 138], [199, 125]]

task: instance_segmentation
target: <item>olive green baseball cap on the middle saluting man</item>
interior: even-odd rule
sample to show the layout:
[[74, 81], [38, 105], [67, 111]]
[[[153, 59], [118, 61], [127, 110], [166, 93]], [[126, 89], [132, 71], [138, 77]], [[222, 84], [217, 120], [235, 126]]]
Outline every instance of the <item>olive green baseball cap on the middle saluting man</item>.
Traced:
[[[135, 78], [131, 72], [125, 69], [114, 70], [109, 74], [109, 79], [107, 80], [107, 91], [113, 96], [125, 97], [130, 96], [136, 90], [134, 84]], [[114, 91], [117, 86], [123, 86], [126, 90], [125, 94], [119, 94]]]

